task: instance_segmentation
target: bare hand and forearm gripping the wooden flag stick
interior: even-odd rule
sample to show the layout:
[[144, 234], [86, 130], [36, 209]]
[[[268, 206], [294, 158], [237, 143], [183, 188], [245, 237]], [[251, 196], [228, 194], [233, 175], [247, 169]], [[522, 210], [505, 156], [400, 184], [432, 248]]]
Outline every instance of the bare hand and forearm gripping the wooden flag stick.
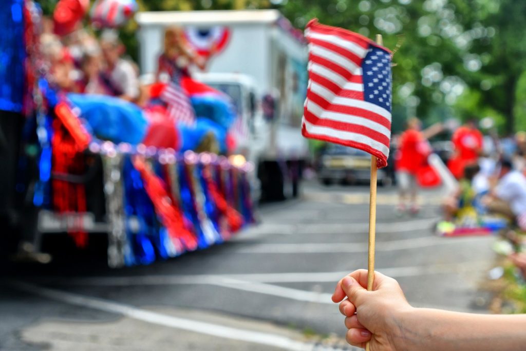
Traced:
[[[393, 278], [375, 272], [366, 290], [367, 270], [340, 280], [332, 300], [340, 303], [347, 342], [371, 351], [521, 351], [526, 315], [479, 315], [414, 308]], [[346, 299], [344, 299], [346, 298]]]

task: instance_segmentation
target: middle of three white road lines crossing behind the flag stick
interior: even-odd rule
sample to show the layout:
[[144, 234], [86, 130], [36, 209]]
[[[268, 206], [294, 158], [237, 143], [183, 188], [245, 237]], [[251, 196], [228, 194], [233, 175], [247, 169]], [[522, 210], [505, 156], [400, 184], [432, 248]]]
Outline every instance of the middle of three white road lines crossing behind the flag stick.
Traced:
[[[377, 242], [378, 252], [407, 250], [438, 245], [458, 245], [480, 242], [480, 237], [439, 238], [428, 236], [401, 240]], [[256, 244], [250, 247], [234, 249], [235, 253], [245, 254], [312, 254], [312, 253], [367, 253], [367, 243], [300, 243], [300, 244]]]

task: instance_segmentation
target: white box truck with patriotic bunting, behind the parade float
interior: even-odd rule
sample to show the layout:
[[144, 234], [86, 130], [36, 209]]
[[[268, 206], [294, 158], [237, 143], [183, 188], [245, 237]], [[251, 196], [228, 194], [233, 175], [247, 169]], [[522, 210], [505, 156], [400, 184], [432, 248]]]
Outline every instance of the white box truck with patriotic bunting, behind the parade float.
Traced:
[[261, 199], [296, 196], [308, 158], [300, 129], [308, 81], [302, 35], [277, 10], [141, 12], [136, 20], [143, 75], [157, 71], [168, 26], [183, 27], [197, 43], [218, 41], [206, 72], [194, 77], [234, 100], [237, 152], [256, 165]]

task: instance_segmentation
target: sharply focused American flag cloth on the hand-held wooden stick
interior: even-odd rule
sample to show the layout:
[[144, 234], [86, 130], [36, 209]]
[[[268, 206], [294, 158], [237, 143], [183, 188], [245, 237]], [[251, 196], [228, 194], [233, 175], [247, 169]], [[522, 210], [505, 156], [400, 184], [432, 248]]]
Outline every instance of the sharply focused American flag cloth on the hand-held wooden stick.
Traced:
[[311, 20], [309, 83], [302, 134], [362, 149], [387, 165], [391, 137], [391, 53], [370, 39]]

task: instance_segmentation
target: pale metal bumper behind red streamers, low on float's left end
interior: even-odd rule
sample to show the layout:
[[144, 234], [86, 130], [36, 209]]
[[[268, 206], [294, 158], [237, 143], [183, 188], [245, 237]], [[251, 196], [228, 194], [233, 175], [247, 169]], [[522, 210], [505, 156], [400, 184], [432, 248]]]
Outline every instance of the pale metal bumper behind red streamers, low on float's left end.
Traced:
[[42, 210], [38, 213], [38, 230], [41, 233], [83, 232], [105, 233], [108, 225], [96, 222], [93, 213], [55, 213]]

